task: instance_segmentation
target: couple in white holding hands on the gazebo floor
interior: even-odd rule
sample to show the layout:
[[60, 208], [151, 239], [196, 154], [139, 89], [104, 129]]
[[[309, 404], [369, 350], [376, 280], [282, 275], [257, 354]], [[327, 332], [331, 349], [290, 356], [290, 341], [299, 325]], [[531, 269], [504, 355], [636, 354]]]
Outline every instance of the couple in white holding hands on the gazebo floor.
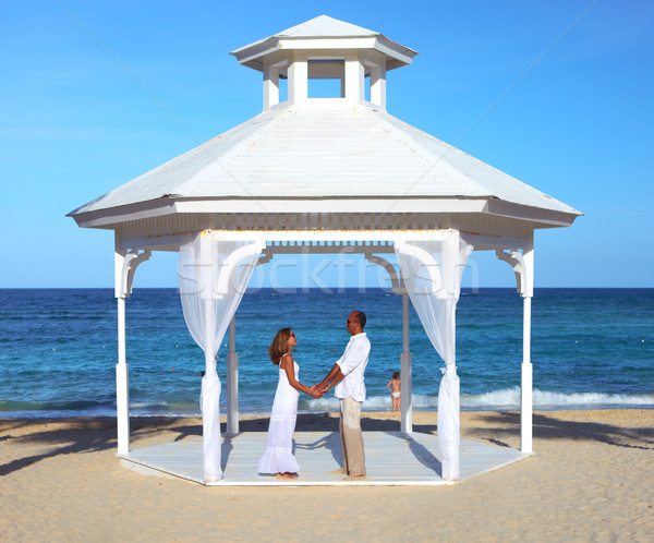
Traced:
[[371, 342], [363, 331], [365, 314], [353, 311], [347, 321], [351, 335], [343, 355], [336, 361], [325, 378], [312, 387], [298, 381], [300, 366], [292, 350], [298, 338], [291, 328], [281, 328], [268, 349], [270, 360], [279, 365], [279, 384], [275, 393], [266, 451], [259, 460], [258, 472], [276, 474], [279, 479], [296, 479], [300, 467], [293, 456], [293, 432], [298, 418], [300, 393], [322, 398], [334, 388], [340, 400], [339, 431], [343, 449], [343, 467], [334, 473], [346, 480], [365, 478], [365, 455], [361, 433], [361, 405], [365, 399], [363, 375], [371, 352]]

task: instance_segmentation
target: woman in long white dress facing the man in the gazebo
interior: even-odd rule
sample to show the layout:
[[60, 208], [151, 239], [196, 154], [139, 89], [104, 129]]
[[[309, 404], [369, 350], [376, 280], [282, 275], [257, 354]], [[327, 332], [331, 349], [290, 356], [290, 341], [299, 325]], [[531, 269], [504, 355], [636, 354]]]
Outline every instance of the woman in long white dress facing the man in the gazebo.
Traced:
[[293, 331], [290, 328], [281, 328], [268, 348], [270, 360], [275, 365], [279, 365], [279, 384], [270, 412], [266, 451], [259, 460], [258, 472], [276, 473], [279, 479], [296, 479], [300, 470], [293, 456], [293, 432], [300, 393], [314, 398], [322, 396], [298, 381], [300, 366], [291, 354], [296, 345], [298, 338]]

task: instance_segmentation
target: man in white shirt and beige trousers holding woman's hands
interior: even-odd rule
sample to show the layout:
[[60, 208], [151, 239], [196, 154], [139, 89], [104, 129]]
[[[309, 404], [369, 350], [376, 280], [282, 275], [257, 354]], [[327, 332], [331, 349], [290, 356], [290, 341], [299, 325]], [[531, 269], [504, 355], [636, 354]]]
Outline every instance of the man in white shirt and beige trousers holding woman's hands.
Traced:
[[348, 331], [352, 336], [350, 342], [343, 355], [337, 360], [317, 388], [324, 394], [336, 385], [334, 395], [340, 399], [339, 431], [343, 448], [343, 467], [334, 473], [347, 474], [346, 480], [356, 480], [365, 479], [361, 405], [365, 400], [363, 374], [371, 353], [371, 342], [363, 331], [365, 313], [353, 311], [347, 324]]

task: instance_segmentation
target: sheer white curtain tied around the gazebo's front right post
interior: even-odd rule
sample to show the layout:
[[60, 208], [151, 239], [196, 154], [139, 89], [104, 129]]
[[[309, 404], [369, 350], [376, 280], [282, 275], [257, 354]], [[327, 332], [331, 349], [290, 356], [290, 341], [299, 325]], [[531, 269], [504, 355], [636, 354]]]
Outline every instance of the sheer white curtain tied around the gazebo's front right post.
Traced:
[[[440, 236], [443, 234], [443, 236]], [[395, 242], [400, 273], [411, 303], [432, 345], [445, 361], [438, 389], [438, 445], [443, 479], [459, 479], [459, 376], [456, 365], [456, 311], [461, 276], [472, 245], [456, 230], [437, 241]]]

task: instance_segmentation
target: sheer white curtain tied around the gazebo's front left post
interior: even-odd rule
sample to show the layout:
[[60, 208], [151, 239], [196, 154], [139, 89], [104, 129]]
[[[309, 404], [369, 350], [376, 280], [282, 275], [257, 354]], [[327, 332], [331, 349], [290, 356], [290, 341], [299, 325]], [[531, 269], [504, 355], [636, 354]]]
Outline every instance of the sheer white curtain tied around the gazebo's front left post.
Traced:
[[202, 231], [180, 246], [180, 297], [191, 336], [205, 353], [201, 409], [205, 482], [219, 481], [220, 378], [216, 354], [247, 281], [264, 249], [264, 240], [227, 241]]

